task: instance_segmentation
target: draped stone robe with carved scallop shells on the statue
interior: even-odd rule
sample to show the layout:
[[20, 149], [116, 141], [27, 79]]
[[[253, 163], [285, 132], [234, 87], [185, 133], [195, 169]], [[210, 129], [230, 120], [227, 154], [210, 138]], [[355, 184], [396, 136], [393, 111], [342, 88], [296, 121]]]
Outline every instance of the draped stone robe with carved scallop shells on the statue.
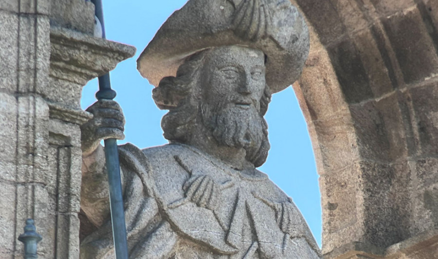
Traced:
[[[239, 171], [182, 144], [126, 144], [119, 154], [129, 258], [320, 258], [301, 213], [266, 174]], [[83, 183], [82, 209], [91, 222], [93, 206], [108, 206], [104, 188], [92, 187], [101, 180]], [[81, 258], [113, 258], [112, 250], [107, 220], [82, 241]]]

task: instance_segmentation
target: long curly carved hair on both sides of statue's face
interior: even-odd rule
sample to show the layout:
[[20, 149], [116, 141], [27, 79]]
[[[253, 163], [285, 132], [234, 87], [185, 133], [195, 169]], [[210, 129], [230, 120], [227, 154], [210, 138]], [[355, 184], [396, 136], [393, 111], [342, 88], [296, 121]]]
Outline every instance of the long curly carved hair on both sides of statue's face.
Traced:
[[[194, 126], [201, 123], [198, 116], [201, 91], [196, 85], [203, 60], [209, 52], [209, 50], [203, 50], [189, 56], [178, 68], [176, 76], [164, 77], [158, 87], [152, 90], [152, 97], [158, 108], [169, 110], [161, 121], [161, 127], [164, 131], [164, 138], [170, 142], [189, 143]], [[260, 99], [260, 116], [265, 115], [270, 102], [271, 91], [266, 85]], [[246, 156], [246, 159], [255, 166], [261, 166], [266, 161], [270, 148], [268, 125], [264, 120], [262, 127], [265, 140], [259, 150]]]

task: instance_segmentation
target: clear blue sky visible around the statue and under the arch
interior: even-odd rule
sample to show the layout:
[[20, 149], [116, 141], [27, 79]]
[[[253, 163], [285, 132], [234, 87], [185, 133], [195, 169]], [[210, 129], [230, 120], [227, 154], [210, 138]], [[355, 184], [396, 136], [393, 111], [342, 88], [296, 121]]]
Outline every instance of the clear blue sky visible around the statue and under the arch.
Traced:
[[[160, 126], [166, 111], [160, 111], [152, 100], [153, 86], [136, 69], [136, 60], [161, 24], [187, 0], [163, 1], [104, 1], [104, 19], [107, 38], [135, 46], [133, 58], [121, 62], [110, 73], [116, 101], [125, 117], [124, 141], [139, 148], [164, 145]], [[83, 89], [81, 105], [86, 109], [94, 101], [97, 80], [91, 80]], [[268, 122], [271, 150], [266, 163], [259, 169], [292, 197], [301, 210], [310, 229], [321, 245], [321, 202], [313, 151], [307, 124], [292, 87], [273, 94], [265, 116]]]

